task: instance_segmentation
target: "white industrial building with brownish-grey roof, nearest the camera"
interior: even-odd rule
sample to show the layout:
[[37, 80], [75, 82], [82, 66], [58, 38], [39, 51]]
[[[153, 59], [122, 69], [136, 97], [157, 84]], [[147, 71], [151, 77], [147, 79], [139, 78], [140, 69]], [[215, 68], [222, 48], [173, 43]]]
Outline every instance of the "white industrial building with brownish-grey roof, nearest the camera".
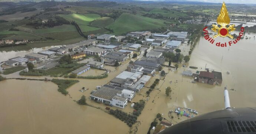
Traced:
[[134, 91], [126, 90], [121, 87], [104, 85], [95, 91], [90, 96], [90, 98], [91, 100], [98, 101], [107, 105], [125, 108], [127, 106], [128, 98], [129, 100], [132, 100], [134, 96]]

